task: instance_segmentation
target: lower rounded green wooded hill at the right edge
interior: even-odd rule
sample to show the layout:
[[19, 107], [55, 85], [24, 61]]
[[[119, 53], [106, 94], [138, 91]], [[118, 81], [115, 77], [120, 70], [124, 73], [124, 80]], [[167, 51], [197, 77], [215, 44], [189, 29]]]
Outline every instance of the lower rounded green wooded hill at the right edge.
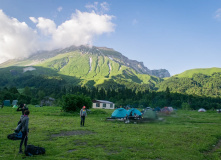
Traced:
[[198, 95], [206, 97], [221, 96], [221, 68], [200, 68], [187, 70], [181, 74], [164, 79], [156, 85], [156, 90]]

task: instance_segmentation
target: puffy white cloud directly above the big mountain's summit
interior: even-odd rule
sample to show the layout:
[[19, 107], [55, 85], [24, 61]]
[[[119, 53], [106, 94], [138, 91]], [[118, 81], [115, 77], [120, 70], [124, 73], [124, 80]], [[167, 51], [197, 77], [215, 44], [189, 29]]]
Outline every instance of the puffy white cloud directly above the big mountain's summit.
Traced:
[[71, 45], [92, 45], [93, 38], [114, 31], [113, 16], [76, 10], [70, 20], [57, 26], [52, 20], [38, 18], [37, 28], [51, 37], [48, 49], [65, 48]]

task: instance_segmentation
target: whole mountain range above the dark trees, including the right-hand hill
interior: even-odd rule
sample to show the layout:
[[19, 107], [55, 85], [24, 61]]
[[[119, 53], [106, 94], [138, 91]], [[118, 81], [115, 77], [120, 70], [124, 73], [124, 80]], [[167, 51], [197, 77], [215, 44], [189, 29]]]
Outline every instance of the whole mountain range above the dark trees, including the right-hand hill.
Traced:
[[51, 93], [81, 85], [221, 96], [221, 68], [191, 69], [169, 77], [165, 69], [150, 70], [142, 62], [105, 47], [71, 46], [40, 51], [26, 59], [0, 64], [0, 75], [2, 87], [53, 89]]

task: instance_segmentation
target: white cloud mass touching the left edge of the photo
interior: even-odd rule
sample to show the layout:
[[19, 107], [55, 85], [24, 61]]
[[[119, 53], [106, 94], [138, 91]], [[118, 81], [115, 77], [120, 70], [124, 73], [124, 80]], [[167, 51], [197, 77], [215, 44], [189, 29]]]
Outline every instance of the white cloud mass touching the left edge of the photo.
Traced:
[[28, 57], [38, 49], [36, 32], [0, 10], [0, 62]]

